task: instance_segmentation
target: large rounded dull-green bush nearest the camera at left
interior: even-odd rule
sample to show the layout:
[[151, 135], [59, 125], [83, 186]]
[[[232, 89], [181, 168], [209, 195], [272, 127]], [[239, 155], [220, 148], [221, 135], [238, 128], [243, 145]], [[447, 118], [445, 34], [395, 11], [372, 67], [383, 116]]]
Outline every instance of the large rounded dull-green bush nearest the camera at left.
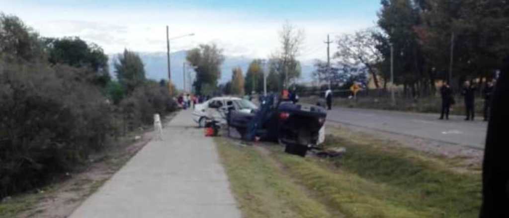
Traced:
[[0, 74], [0, 197], [44, 184], [104, 146], [111, 110], [87, 72], [4, 64]]

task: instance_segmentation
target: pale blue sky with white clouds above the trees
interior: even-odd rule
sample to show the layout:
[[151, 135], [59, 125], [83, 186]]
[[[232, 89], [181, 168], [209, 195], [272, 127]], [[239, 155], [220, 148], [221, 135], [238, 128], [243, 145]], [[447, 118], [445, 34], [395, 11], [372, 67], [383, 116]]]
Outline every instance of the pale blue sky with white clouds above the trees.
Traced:
[[214, 42], [231, 56], [266, 58], [285, 20], [304, 29], [299, 59], [324, 59], [331, 35], [371, 27], [379, 0], [0, 0], [0, 11], [20, 17], [46, 37], [79, 36], [106, 53], [124, 48], [164, 52], [165, 26], [172, 50]]

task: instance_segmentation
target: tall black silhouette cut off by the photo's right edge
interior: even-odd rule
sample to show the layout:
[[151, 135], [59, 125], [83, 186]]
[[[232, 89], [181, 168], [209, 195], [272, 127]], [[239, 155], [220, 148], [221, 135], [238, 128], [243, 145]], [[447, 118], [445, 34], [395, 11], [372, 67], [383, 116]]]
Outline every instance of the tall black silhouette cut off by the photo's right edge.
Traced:
[[490, 122], [483, 161], [483, 205], [480, 218], [509, 217], [509, 147], [507, 146], [507, 123], [509, 123], [509, 57], [492, 96]]

